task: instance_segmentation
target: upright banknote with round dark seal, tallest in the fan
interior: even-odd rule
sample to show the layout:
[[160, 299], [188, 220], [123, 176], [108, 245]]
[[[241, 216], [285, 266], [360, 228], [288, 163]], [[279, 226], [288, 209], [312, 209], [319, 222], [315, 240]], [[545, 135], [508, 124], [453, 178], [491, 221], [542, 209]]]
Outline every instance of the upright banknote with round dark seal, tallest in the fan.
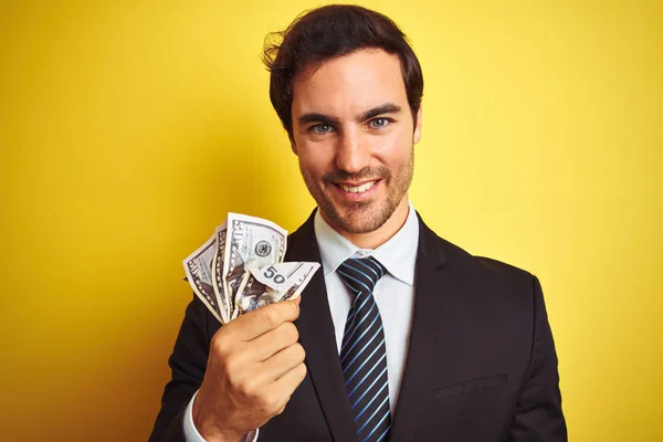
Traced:
[[236, 294], [249, 267], [263, 267], [283, 261], [287, 231], [275, 223], [241, 213], [229, 213], [223, 256], [225, 296], [230, 304], [230, 319], [234, 319]]

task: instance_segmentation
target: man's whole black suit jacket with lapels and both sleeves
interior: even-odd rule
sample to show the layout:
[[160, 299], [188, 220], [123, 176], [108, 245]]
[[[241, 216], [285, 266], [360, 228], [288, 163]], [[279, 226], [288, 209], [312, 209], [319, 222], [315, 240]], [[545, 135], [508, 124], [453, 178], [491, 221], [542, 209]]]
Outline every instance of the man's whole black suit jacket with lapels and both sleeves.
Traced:
[[[390, 441], [566, 441], [557, 356], [538, 280], [475, 257], [419, 218], [414, 314]], [[288, 236], [286, 261], [316, 261], [313, 215]], [[357, 440], [323, 272], [295, 323], [308, 373], [259, 441]], [[149, 439], [185, 441], [219, 323], [196, 297], [169, 359], [172, 379]]]

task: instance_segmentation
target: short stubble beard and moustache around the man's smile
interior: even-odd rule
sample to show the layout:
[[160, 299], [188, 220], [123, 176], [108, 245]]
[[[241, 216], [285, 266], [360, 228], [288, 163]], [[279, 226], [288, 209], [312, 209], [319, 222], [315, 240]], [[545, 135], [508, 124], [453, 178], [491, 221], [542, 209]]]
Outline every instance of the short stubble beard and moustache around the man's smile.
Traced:
[[[308, 188], [308, 192], [317, 202], [325, 220], [334, 229], [352, 234], [370, 233], [381, 228], [391, 218], [410, 188], [414, 173], [414, 149], [411, 148], [410, 151], [408, 160], [398, 169], [396, 176], [386, 167], [366, 168], [356, 175], [335, 170], [326, 173], [320, 185], [311, 172], [304, 170], [302, 167], [299, 167], [299, 170]], [[380, 178], [383, 186], [387, 182], [391, 185], [387, 189], [385, 201], [344, 202], [341, 207], [338, 207], [329, 194], [335, 190], [330, 189], [330, 187], [336, 186], [332, 181], [346, 179], [361, 180], [364, 178]]]

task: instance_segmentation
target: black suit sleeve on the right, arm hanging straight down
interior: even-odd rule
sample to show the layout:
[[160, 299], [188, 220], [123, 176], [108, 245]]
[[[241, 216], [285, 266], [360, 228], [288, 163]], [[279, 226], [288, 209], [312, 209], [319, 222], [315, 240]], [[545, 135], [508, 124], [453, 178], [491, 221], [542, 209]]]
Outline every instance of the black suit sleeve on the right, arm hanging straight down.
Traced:
[[561, 411], [561, 393], [557, 371], [557, 354], [540, 283], [534, 285], [534, 339], [529, 367], [519, 392], [511, 442], [567, 441], [567, 428]]

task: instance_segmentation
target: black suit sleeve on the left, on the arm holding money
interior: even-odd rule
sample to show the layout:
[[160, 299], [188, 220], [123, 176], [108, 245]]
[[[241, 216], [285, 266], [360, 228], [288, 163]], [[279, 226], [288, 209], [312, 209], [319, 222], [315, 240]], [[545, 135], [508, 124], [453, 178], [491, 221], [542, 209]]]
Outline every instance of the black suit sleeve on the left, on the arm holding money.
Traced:
[[172, 355], [168, 359], [171, 379], [161, 397], [161, 410], [149, 436], [149, 442], [186, 442], [183, 419], [191, 397], [204, 377], [210, 351], [211, 330], [208, 325], [217, 319], [193, 296], [185, 313]]

